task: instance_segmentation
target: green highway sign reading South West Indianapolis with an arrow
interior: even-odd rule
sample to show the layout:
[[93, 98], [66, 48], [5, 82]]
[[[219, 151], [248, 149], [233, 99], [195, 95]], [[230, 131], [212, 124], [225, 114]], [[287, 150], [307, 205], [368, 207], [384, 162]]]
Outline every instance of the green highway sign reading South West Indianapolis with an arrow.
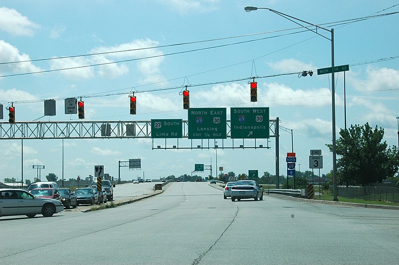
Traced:
[[231, 138], [269, 138], [269, 107], [230, 108]]

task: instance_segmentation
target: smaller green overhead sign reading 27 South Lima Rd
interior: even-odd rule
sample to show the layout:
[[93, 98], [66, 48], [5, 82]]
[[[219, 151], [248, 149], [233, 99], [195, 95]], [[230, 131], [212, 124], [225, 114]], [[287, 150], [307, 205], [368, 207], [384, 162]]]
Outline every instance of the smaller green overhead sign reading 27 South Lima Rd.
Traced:
[[151, 138], [183, 138], [180, 119], [151, 120]]

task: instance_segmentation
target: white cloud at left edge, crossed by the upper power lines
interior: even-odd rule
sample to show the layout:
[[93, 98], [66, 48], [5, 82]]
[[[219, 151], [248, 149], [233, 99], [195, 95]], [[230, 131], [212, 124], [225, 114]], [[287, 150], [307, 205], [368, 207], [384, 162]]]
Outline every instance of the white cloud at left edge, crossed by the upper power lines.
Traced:
[[[1, 16], [1, 15], [0, 15]], [[0, 40], [0, 61], [1, 62], [17, 62], [17, 61], [28, 61], [30, 60], [29, 55], [23, 53], [20, 54], [19, 50], [5, 42]], [[5, 75], [7, 73], [26, 73], [40, 71], [39, 67], [34, 66], [31, 62], [22, 63], [11, 63], [0, 65], [0, 74]]]

